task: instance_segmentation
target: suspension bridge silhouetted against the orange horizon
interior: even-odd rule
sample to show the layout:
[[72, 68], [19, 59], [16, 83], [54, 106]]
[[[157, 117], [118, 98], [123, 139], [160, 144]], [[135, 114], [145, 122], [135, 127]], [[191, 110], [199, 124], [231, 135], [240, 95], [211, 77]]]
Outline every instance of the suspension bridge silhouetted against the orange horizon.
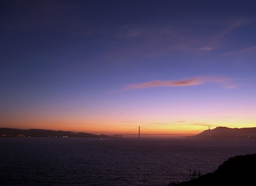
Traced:
[[[123, 135], [137, 135], [139, 138], [140, 138], [141, 135], [195, 135], [195, 134], [189, 134], [189, 133], [179, 133], [179, 134], [178, 133], [166, 133], [165, 134], [165, 133], [155, 132], [153, 130], [148, 130], [148, 131], [154, 132], [154, 133], [142, 134], [140, 132], [140, 128], [142, 128], [144, 130], [148, 130], [148, 129], [144, 128], [144, 127], [138, 126], [138, 127], [134, 128], [134, 129], [129, 130], [128, 132], [124, 132], [122, 134], [107, 134], [107, 135], [111, 136], [111, 137], [115, 137], [115, 138], [122, 138]], [[132, 131], [134, 131], [136, 129], [138, 130], [138, 133], [129, 133], [129, 132], [132, 132]], [[203, 128], [203, 129], [200, 129], [200, 130], [206, 130], [206, 128]], [[196, 130], [196, 131], [192, 131], [192, 132], [197, 132], [197, 131], [200, 131], [200, 130]], [[210, 126], [209, 126], [208, 130], [210, 130]]]

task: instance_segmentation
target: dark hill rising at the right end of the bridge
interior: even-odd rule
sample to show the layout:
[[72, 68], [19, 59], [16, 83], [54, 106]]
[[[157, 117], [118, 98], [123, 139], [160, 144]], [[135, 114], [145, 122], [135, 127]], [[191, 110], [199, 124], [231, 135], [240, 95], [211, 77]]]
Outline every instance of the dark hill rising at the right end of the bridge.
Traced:
[[228, 128], [216, 127], [212, 130], [204, 130], [191, 138], [212, 138], [212, 139], [256, 139], [256, 127], [251, 128]]

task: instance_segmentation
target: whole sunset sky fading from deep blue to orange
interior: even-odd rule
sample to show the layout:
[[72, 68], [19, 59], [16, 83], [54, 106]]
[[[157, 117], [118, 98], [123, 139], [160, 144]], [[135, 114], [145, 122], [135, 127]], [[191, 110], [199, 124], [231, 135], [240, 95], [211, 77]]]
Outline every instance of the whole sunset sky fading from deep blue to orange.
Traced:
[[2, 0], [0, 127], [256, 127], [255, 10], [255, 0]]

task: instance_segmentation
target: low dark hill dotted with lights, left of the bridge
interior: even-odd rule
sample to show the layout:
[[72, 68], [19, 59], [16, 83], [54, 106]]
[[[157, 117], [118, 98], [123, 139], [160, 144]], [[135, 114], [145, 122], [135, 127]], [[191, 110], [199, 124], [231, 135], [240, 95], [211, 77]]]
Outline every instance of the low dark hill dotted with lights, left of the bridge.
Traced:
[[28, 138], [111, 138], [108, 135], [96, 135], [85, 132], [72, 132], [61, 130], [43, 130], [43, 129], [12, 129], [12, 128], [0, 128], [0, 137], [28, 137]]

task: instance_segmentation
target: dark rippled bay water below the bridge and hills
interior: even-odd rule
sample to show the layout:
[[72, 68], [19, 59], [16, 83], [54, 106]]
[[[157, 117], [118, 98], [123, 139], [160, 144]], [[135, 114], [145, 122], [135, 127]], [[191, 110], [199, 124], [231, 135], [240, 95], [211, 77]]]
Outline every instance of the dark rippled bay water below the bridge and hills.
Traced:
[[0, 138], [0, 185], [166, 186], [255, 147], [254, 140]]

